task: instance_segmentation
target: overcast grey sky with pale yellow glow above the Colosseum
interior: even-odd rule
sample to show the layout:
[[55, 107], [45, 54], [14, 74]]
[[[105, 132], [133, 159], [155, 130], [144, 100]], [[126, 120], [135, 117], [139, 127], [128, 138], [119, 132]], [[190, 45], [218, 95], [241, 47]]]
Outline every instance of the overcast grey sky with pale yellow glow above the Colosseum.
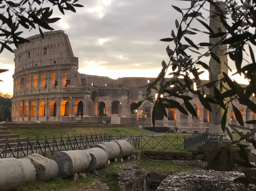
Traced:
[[[188, 1], [175, 0], [80, 0], [83, 8], [62, 15], [54, 8], [54, 17], [61, 17], [51, 26], [68, 35], [79, 72], [111, 78], [156, 77], [163, 60], [168, 62], [165, 48], [169, 43], [159, 39], [171, 36], [175, 20], [182, 17], [171, 5], [185, 8]], [[207, 18], [207, 17], [206, 17]], [[201, 26], [197, 23], [195, 28]], [[38, 34], [24, 32], [23, 37]], [[194, 35], [193, 40], [208, 42], [207, 35]], [[13, 47], [15, 48], [15, 47]], [[13, 91], [14, 54], [0, 54], [2, 92]], [[208, 60], [204, 60], [206, 63]], [[233, 64], [229, 63], [231, 68]], [[202, 76], [207, 78], [207, 73]], [[244, 82], [239, 79], [239, 82]]]

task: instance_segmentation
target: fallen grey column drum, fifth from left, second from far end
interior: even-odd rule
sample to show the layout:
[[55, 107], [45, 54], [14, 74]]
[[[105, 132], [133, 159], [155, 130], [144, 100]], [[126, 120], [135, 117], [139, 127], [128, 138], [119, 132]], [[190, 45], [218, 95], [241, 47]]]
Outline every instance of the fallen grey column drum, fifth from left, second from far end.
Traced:
[[91, 146], [91, 148], [103, 149], [107, 154], [108, 160], [116, 159], [116, 158], [118, 158], [118, 156], [120, 154], [119, 145], [115, 142], [99, 143], [99, 144]]

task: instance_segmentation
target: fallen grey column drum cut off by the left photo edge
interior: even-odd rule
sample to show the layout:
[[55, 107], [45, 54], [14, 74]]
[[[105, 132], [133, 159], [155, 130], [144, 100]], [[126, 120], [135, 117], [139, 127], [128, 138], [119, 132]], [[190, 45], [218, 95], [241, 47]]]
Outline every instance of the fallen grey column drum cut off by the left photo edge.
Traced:
[[36, 179], [36, 169], [28, 157], [0, 159], [0, 190], [11, 191]]

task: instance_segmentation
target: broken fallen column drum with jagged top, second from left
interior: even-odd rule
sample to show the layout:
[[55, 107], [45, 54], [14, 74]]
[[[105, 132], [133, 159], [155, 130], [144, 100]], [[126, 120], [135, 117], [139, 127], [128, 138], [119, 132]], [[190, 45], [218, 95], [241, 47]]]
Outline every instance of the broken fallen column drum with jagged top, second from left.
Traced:
[[32, 164], [36, 168], [37, 179], [48, 181], [58, 175], [59, 167], [54, 160], [48, 159], [39, 154], [32, 154], [27, 157], [31, 159]]

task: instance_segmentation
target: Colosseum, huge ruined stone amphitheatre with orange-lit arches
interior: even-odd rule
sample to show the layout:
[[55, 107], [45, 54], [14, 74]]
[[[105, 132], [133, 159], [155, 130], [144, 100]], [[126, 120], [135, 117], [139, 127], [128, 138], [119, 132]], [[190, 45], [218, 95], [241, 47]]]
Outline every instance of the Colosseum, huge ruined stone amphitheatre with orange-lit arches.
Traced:
[[[111, 79], [79, 73], [78, 58], [74, 56], [68, 36], [63, 30], [45, 32], [44, 38], [38, 34], [27, 39], [30, 43], [21, 44], [14, 50], [13, 122], [133, 124], [138, 120], [143, 126], [152, 126], [154, 104], [145, 101], [138, 110], [134, 110], [134, 105], [146, 93], [146, 88], [140, 87], [155, 78]], [[202, 80], [202, 83], [206, 82]], [[152, 90], [151, 94], [155, 96], [156, 91]], [[169, 109], [168, 118], [163, 119], [156, 114], [156, 126], [208, 127], [208, 110], [201, 105], [197, 95], [189, 95], [193, 96], [191, 103], [198, 117]], [[173, 99], [185, 107], [183, 100]], [[256, 101], [255, 97], [251, 99]], [[255, 119], [255, 114], [249, 108], [240, 105], [238, 101], [233, 104], [239, 108], [244, 120]], [[233, 111], [229, 111], [229, 116], [232, 124], [238, 124]]]

